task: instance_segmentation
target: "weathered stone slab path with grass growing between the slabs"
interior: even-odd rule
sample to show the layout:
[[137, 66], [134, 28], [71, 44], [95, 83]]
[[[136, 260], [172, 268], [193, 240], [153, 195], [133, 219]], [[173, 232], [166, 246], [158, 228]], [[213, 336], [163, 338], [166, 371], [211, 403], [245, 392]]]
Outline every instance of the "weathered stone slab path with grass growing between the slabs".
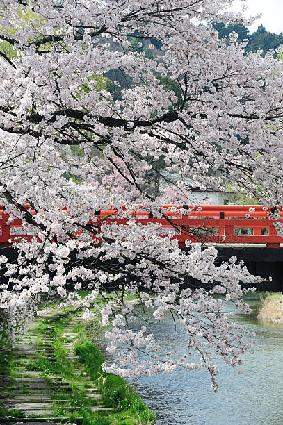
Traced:
[[[74, 362], [76, 374], [83, 380], [81, 388], [85, 390], [87, 385], [88, 394], [86, 398], [99, 400], [101, 396], [98, 388], [92, 385], [90, 376], [84, 372], [83, 367], [78, 367], [78, 356], [74, 355], [74, 342], [76, 333], [74, 326], [81, 321], [80, 317], [72, 319], [70, 324], [66, 325], [63, 334], [64, 345], [69, 350], [67, 359]], [[52, 347], [52, 328], [47, 329], [45, 338], [41, 338], [42, 343], [38, 344], [38, 325], [40, 319], [35, 319], [29, 331], [13, 347], [13, 362], [17, 367], [13, 376], [6, 376], [0, 372], [0, 409], [9, 410], [9, 415], [0, 417], [0, 425], [5, 424], [42, 424], [55, 425], [58, 422], [68, 422], [66, 416], [54, 416], [54, 409], [60, 408], [60, 412], [76, 412], [79, 407], [66, 406], [67, 394], [72, 393], [72, 387], [68, 382], [64, 382], [60, 377], [60, 371], [52, 371], [48, 375], [47, 381], [42, 372], [31, 369], [31, 362], [38, 358], [38, 353], [42, 354], [51, 363], [56, 363], [54, 348]], [[1, 353], [0, 353], [1, 355]], [[55, 393], [54, 393], [55, 392]], [[56, 399], [52, 394], [56, 394]], [[63, 406], [60, 406], [62, 405]], [[104, 406], [90, 406], [92, 412], [99, 410], [113, 410]], [[80, 424], [83, 417], [78, 416], [75, 419]], [[74, 421], [72, 421], [74, 422]]]

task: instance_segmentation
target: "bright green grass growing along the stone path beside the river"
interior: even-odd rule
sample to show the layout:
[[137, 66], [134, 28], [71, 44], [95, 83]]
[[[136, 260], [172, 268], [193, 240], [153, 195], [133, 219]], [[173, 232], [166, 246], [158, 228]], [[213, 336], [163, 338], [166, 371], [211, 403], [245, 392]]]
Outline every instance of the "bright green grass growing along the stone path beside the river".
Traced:
[[[81, 297], [86, 297], [90, 291], [80, 291]], [[117, 294], [107, 294], [108, 297], [117, 297]], [[120, 297], [120, 294], [118, 294]], [[133, 297], [126, 294], [127, 299]], [[103, 298], [99, 297], [96, 303], [103, 303]], [[91, 307], [90, 307], [91, 309]], [[106, 374], [102, 371], [104, 357], [99, 350], [102, 344], [102, 328], [97, 322], [92, 322], [91, 328], [86, 329], [84, 324], [74, 326], [72, 332], [77, 334], [75, 350], [79, 356], [79, 362], [68, 359], [69, 350], [65, 346], [65, 328], [81, 310], [81, 308], [67, 308], [60, 310], [54, 315], [49, 315], [47, 319], [41, 319], [36, 330], [36, 344], [38, 356], [29, 363], [20, 360], [13, 363], [11, 356], [0, 357], [0, 367], [5, 368], [10, 373], [15, 373], [16, 366], [25, 365], [27, 370], [39, 372], [47, 381], [54, 381], [56, 376], [62, 377], [72, 387], [72, 392], [62, 393], [61, 390], [50, 392], [53, 402], [54, 415], [68, 417], [71, 423], [76, 422], [76, 417], [83, 417], [82, 425], [146, 425], [154, 424], [155, 414], [149, 410], [143, 399], [141, 399], [133, 388], [124, 379], [113, 374]], [[104, 329], [105, 331], [105, 329]], [[44, 340], [48, 336], [51, 346], [54, 348], [56, 362], [51, 362], [47, 355], [42, 353], [40, 347], [44, 345]], [[76, 370], [77, 367], [84, 367], [90, 378], [83, 376], [83, 371]], [[54, 372], [60, 372], [55, 374]], [[55, 381], [54, 381], [55, 382]], [[88, 398], [88, 387], [98, 387], [101, 399]], [[56, 402], [55, 400], [60, 400]], [[92, 406], [106, 406], [113, 410], [92, 412]], [[63, 409], [64, 406], [72, 406], [79, 410], [70, 412]], [[15, 417], [15, 412], [0, 410], [0, 416]]]

